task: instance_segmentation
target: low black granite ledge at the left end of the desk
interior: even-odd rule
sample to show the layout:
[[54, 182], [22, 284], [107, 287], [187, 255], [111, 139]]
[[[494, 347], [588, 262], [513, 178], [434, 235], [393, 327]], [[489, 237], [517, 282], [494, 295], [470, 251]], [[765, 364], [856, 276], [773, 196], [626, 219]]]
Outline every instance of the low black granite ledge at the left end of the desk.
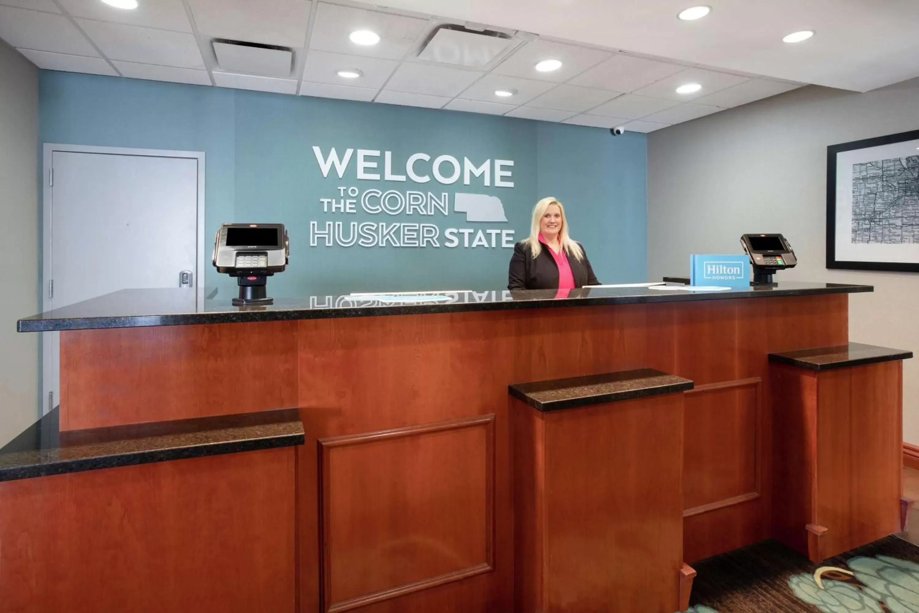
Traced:
[[304, 442], [297, 409], [61, 432], [58, 409], [0, 448], [0, 481]]

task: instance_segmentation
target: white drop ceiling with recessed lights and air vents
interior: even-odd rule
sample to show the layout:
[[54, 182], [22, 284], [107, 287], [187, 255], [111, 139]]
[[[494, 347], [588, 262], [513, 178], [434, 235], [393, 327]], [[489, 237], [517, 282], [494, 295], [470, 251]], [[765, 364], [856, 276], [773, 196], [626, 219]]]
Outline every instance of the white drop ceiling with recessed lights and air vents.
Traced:
[[[137, 9], [122, 10], [100, 0], [0, 0], [0, 38], [49, 70], [641, 132], [807, 83], [860, 89], [919, 74], [919, 62], [886, 57], [895, 47], [890, 41], [859, 51], [866, 39], [883, 38], [873, 32], [848, 41], [847, 55], [832, 61], [833, 53], [842, 52], [834, 46], [833, 27], [851, 33], [857, 24], [824, 15], [833, 12], [831, 5], [850, 17], [875, 6], [877, 13], [911, 19], [919, 17], [913, 10], [919, 2], [809, 0], [794, 9], [800, 18], [777, 23], [777, 17], [761, 14], [763, 6], [792, 3], [713, 4], [709, 17], [681, 22], [676, 13], [692, 2], [645, 0], [624, 10], [620, 0], [385, 1], [395, 7], [346, 0], [139, 0]], [[747, 8], [741, 11], [741, 5]], [[758, 20], [742, 35], [724, 35], [739, 11]], [[863, 27], [880, 18], [863, 20]], [[915, 26], [901, 23], [890, 30], [911, 29], [899, 49], [912, 49], [913, 60], [919, 57]], [[795, 47], [782, 43], [781, 36], [796, 28], [815, 28], [818, 35]], [[354, 44], [348, 34], [356, 29], [376, 32], [380, 42]], [[493, 38], [475, 35], [482, 29]], [[289, 74], [228, 70], [214, 52], [215, 40], [289, 49]], [[451, 53], [451, 41], [468, 44]], [[855, 55], [857, 61], [850, 58]], [[536, 71], [535, 64], [547, 58], [561, 60], [562, 68]], [[337, 74], [342, 69], [359, 76], [343, 78]], [[686, 83], [702, 88], [676, 94]], [[512, 96], [495, 96], [499, 89]]]

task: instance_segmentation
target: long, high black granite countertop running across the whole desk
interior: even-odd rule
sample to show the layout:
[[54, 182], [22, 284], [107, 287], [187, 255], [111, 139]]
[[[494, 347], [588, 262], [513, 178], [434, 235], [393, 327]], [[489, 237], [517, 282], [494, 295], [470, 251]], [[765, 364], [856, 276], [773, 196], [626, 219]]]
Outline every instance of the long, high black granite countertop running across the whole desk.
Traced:
[[[672, 286], [677, 287], [677, 286]], [[683, 286], [678, 286], [683, 287]], [[19, 332], [126, 328], [149, 325], [233, 324], [332, 317], [372, 317], [437, 312], [502, 311], [547, 307], [596, 306], [636, 302], [712, 301], [772, 296], [873, 291], [845, 283], [777, 283], [724, 291], [583, 288], [570, 291], [497, 289], [433, 291], [414, 294], [350, 294], [278, 298], [270, 306], [234, 307], [228, 296], [196, 306], [193, 289], [122, 289], [99, 298], [33, 315], [17, 322]]]

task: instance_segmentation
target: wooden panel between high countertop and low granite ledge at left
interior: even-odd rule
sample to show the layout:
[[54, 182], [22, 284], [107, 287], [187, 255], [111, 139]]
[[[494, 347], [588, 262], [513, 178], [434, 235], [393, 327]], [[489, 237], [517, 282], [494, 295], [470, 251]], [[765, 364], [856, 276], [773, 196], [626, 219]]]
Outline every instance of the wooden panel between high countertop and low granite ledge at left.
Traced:
[[61, 430], [297, 406], [297, 324], [61, 333]]

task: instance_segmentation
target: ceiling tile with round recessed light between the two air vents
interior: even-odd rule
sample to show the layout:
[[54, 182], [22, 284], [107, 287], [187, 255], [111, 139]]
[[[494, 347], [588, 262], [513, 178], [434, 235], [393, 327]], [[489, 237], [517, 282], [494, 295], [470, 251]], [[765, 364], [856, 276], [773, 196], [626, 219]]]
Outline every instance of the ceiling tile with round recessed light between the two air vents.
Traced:
[[[321, 2], [312, 25], [310, 49], [401, 60], [427, 24], [425, 19], [416, 17]], [[348, 35], [357, 29], [376, 32], [380, 42], [367, 47], [354, 44]]]

